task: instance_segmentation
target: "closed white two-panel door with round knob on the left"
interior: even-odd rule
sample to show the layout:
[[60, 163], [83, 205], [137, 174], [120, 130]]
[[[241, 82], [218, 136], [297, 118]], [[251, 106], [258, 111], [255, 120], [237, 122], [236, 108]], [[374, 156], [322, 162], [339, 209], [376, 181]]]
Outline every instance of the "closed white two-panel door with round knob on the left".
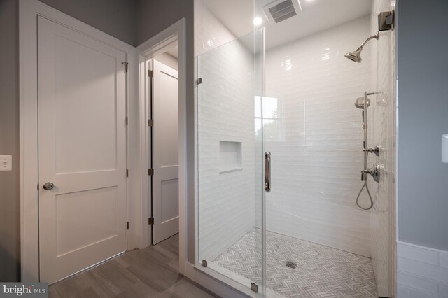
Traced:
[[125, 61], [124, 52], [38, 17], [41, 281], [126, 250]]

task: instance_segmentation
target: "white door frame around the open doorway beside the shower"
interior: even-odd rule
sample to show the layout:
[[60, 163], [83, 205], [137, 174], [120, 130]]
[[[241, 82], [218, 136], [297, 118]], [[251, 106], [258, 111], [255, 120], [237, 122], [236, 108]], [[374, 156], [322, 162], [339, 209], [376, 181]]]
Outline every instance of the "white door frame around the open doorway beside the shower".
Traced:
[[[146, 120], [146, 96], [148, 90], [146, 90], [148, 78], [146, 68], [146, 61], [152, 59], [157, 55], [160, 55], [174, 42], [178, 42], [179, 45], [179, 272], [185, 274], [186, 268], [186, 234], [187, 234], [187, 221], [186, 221], [186, 161], [187, 161], [187, 148], [186, 148], [186, 19], [183, 18], [172, 24], [172, 26], [163, 30], [153, 38], [142, 43], [137, 47], [137, 53], [139, 55], [139, 104], [140, 104], [140, 117], [143, 121], [140, 122], [140, 158], [142, 164], [148, 164], [148, 148], [151, 146], [151, 140], [148, 140], [148, 124]], [[142, 229], [146, 232], [144, 235], [145, 246], [150, 245], [150, 229], [148, 225], [148, 195], [149, 195], [149, 183], [148, 183], [148, 169], [141, 169], [141, 194], [142, 194]]]

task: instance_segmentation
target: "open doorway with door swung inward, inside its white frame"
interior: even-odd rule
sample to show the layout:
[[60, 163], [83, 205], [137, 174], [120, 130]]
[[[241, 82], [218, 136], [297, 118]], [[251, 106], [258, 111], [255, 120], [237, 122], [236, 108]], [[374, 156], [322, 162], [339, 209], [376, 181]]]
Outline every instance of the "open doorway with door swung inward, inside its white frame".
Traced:
[[147, 59], [148, 231], [155, 245], [179, 233], [178, 43]]

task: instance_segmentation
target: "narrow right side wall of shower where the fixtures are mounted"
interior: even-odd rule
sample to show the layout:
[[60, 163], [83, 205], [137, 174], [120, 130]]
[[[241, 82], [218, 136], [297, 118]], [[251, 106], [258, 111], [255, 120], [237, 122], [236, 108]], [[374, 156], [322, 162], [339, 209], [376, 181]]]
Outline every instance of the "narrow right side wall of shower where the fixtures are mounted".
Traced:
[[[370, 35], [378, 31], [378, 14], [393, 10], [393, 1], [372, 1]], [[379, 163], [381, 175], [379, 183], [370, 180], [368, 185], [374, 196], [371, 217], [372, 264], [377, 280], [379, 297], [391, 297], [391, 202], [393, 201], [395, 180], [395, 31], [381, 31], [378, 41], [371, 47], [371, 89], [377, 94], [370, 97], [370, 115], [373, 125], [369, 127], [369, 146], [381, 146], [379, 157], [369, 156], [368, 166]]]

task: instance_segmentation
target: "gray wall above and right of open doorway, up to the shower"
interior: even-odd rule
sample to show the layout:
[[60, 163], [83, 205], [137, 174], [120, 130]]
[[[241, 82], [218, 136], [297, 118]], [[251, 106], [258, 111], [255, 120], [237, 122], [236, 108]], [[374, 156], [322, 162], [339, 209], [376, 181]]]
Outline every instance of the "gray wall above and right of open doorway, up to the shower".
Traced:
[[195, 231], [195, 39], [193, 0], [137, 0], [137, 43], [141, 44], [185, 17], [187, 22], [188, 260], [194, 262]]

